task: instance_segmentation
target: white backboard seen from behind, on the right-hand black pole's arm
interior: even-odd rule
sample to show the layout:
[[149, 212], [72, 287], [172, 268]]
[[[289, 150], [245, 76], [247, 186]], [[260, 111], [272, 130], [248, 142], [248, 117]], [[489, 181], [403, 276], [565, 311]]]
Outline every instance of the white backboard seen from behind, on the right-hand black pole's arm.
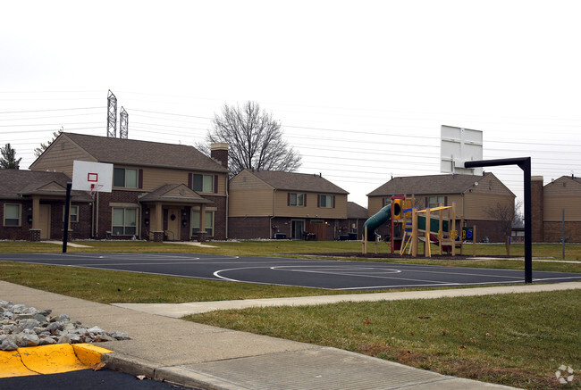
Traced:
[[482, 131], [442, 125], [440, 132], [440, 171], [482, 175], [482, 168], [464, 168], [464, 162], [483, 159]]

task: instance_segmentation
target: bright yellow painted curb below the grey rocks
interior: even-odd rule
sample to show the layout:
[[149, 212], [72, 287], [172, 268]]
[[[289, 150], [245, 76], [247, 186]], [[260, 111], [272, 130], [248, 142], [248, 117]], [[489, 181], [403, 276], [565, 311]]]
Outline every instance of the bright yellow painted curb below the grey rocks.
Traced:
[[52, 344], [0, 351], [0, 378], [88, 369], [101, 361], [105, 348], [91, 344]]

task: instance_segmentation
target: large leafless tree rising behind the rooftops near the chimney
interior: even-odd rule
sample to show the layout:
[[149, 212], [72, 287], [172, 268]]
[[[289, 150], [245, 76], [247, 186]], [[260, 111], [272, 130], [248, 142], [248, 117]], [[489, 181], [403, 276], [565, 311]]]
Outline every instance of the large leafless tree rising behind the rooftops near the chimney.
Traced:
[[209, 154], [208, 144], [229, 145], [228, 166], [232, 175], [244, 169], [292, 172], [300, 167], [299, 152], [282, 139], [281, 123], [272, 114], [260, 111], [255, 102], [247, 102], [242, 107], [224, 104], [222, 112], [215, 115], [206, 142], [196, 145], [206, 154]]

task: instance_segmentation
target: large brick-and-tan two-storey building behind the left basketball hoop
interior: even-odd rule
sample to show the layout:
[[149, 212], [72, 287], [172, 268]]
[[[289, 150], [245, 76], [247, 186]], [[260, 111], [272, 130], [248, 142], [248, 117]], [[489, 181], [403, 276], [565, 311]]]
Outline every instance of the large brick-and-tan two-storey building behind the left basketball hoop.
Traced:
[[225, 239], [227, 145], [213, 145], [212, 154], [186, 145], [63, 133], [30, 170], [72, 178], [75, 160], [114, 165], [113, 192], [96, 195], [90, 234], [78, 238]]

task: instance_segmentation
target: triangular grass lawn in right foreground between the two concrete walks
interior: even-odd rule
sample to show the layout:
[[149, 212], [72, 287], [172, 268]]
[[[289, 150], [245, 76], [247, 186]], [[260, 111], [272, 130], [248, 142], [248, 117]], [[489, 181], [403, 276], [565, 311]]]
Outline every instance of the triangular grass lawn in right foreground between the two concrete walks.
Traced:
[[[581, 367], [581, 291], [213, 311], [189, 320], [529, 389]], [[576, 376], [577, 377], [577, 376]]]

